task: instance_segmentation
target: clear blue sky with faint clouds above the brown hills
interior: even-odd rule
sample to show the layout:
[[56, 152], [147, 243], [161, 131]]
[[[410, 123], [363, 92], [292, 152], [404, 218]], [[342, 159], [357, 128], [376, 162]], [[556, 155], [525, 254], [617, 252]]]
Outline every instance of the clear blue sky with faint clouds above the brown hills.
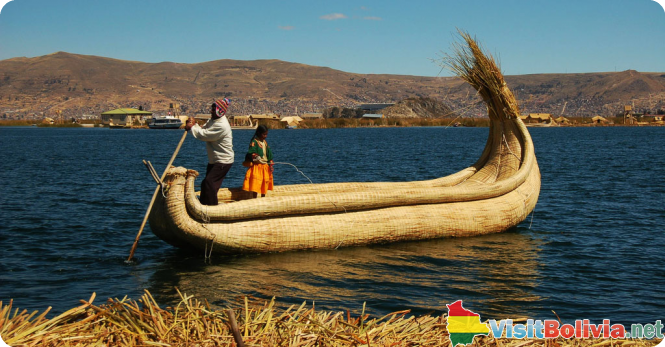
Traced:
[[0, 60], [64, 51], [451, 76], [437, 60], [458, 29], [507, 75], [665, 72], [663, 0], [0, 0]]

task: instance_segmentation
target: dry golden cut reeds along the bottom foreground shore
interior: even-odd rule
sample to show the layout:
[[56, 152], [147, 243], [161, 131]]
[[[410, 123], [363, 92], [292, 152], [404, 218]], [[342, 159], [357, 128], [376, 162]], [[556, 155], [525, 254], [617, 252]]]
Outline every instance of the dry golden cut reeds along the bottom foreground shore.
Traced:
[[[317, 311], [305, 303], [278, 309], [275, 301], [215, 310], [180, 295], [161, 308], [146, 290], [140, 300], [92, 301], [54, 318], [19, 311], [0, 302], [0, 346], [450, 346], [447, 317], [398, 311], [381, 318], [363, 312]], [[238, 317], [237, 322], [235, 317]], [[236, 328], [234, 337], [233, 328]], [[477, 346], [665, 346], [665, 340], [476, 338]]]

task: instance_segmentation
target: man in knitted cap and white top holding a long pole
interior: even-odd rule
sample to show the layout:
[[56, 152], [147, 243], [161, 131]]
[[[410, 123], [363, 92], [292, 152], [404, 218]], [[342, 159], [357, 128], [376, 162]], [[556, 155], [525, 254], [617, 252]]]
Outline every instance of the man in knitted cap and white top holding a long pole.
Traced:
[[192, 132], [194, 138], [206, 143], [208, 166], [206, 177], [201, 182], [201, 204], [217, 205], [217, 191], [233, 165], [233, 135], [231, 125], [226, 119], [226, 110], [231, 100], [220, 99], [212, 104], [210, 120], [202, 127], [194, 118], [189, 118], [185, 130]]

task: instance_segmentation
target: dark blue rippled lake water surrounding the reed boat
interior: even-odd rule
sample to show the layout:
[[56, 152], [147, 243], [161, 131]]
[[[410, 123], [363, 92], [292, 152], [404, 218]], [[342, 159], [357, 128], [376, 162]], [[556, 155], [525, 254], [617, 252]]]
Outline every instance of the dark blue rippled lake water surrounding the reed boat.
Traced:
[[[276, 161], [315, 183], [410, 181], [473, 164], [486, 128], [273, 130]], [[141, 160], [161, 174], [181, 131], [0, 128], [0, 300], [62, 312], [148, 289], [175, 288], [219, 307], [244, 296], [282, 305], [370, 313], [446, 312], [458, 299], [483, 319], [609, 318], [653, 323], [665, 315], [665, 127], [532, 129], [542, 172], [535, 213], [514, 230], [334, 251], [213, 258], [156, 238], [125, 259], [154, 190]], [[239, 186], [252, 135], [235, 131]], [[176, 165], [205, 171], [188, 137]], [[200, 181], [200, 178], [199, 178]], [[307, 183], [290, 166], [275, 183]]]

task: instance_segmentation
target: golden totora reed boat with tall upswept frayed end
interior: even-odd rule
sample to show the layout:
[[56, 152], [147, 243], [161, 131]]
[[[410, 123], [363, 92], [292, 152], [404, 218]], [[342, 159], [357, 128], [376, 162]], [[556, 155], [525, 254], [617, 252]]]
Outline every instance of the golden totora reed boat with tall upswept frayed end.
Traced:
[[153, 233], [178, 247], [263, 253], [473, 236], [524, 221], [540, 192], [533, 142], [492, 56], [460, 35], [442, 64], [478, 91], [491, 120], [474, 165], [426, 181], [275, 186], [259, 199], [221, 189], [218, 206], [199, 203], [196, 171], [172, 167], [150, 212]]

